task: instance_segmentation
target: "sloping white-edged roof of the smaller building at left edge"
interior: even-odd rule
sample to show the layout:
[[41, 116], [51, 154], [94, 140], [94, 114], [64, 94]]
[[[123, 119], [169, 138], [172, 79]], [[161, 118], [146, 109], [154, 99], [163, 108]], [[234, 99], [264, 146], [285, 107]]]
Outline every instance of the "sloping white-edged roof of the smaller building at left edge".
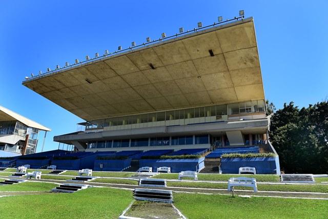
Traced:
[[18, 121], [32, 128], [37, 128], [44, 131], [51, 131], [51, 129], [40, 125], [32, 120], [29, 120], [28, 118], [19, 115], [9, 109], [6, 109], [2, 106], [0, 106], [0, 121]]

